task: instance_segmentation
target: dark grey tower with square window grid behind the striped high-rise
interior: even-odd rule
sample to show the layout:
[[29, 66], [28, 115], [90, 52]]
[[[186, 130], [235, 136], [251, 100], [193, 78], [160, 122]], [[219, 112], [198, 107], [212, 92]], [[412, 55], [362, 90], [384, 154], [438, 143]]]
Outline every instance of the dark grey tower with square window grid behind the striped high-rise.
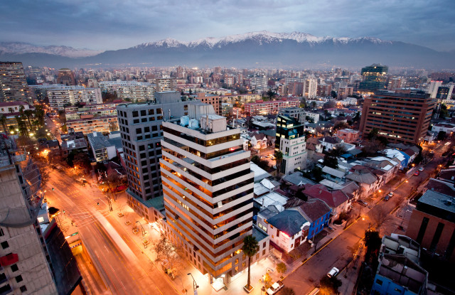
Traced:
[[188, 102], [179, 92], [156, 92], [155, 102], [119, 104], [117, 117], [127, 168], [129, 205], [151, 222], [154, 199], [162, 200], [159, 175], [161, 124], [164, 119], [188, 114]]

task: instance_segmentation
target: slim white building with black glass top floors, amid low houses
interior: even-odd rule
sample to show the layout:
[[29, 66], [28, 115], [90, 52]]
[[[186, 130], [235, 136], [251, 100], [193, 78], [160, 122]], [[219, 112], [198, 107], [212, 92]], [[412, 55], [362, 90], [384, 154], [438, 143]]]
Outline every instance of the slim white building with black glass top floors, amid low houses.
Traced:
[[279, 114], [275, 151], [283, 154], [280, 173], [287, 174], [306, 167], [305, 125], [299, 119]]

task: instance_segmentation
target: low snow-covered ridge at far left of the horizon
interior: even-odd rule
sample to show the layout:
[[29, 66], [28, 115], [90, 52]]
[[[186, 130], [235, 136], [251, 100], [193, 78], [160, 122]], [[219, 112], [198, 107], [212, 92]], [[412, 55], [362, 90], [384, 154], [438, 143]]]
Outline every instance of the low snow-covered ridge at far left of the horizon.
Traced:
[[53, 55], [65, 56], [67, 58], [86, 58], [87, 56], [102, 53], [100, 50], [76, 49], [68, 46], [38, 46], [23, 42], [0, 42], [0, 51], [4, 53], [47, 53]]

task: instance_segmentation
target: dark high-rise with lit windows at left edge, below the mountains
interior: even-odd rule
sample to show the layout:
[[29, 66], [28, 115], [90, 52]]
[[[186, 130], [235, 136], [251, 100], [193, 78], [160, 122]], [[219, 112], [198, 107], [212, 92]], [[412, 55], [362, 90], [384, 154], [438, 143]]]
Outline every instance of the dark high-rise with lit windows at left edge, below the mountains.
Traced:
[[32, 103], [22, 63], [0, 62], [0, 102]]

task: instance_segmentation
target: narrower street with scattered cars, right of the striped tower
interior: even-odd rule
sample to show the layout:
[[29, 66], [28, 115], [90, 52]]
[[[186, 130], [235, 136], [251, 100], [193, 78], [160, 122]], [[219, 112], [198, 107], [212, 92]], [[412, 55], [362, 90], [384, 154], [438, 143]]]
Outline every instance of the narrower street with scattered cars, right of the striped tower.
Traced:
[[[341, 270], [338, 276], [344, 275], [344, 269], [346, 269], [348, 264], [353, 260], [353, 254], [356, 249], [355, 245], [358, 245], [364, 237], [365, 230], [373, 227], [375, 220], [378, 220], [376, 217], [378, 216], [378, 212], [384, 211], [389, 214], [395, 213], [397, 208], [402, 205], [407, 205], [407, 198], [410, 193], [414, 191], [414, 189], [422, 188], [425, 185], [427, 178], [434, 174], [434, 171], [438, 168], [440, 163], [444, 162], [441, 154], [443, 154], [444, 151], [447, 151], [449, 146], [450, 144], [444, 145], [444, 143], [441, 143], [434, 149], [434, 158], [424, 166], [424, 171], [420, 172], [419, 176], [414, 176], [414, 172], [410, 173], [408, 176], [405, 176], [405, 174], [402, 173], [402, 178], [390, 188], [391, 191], [395, 192], [395, 195], [389, 201], [385, 202], [382, 200], [382, 196], [389, 193], [389, 189], [386, 186], [386, 188], [383, 188], [384, 191], [382, 192], [382, 196], [373, 199], [373, 208], [369, 209], [368, 207], [363, 207], [358, 203], [355, 203], [353, 212], [360, 213], [364, 218], [358, 219], [344, 230], [341, 235], [338, 235], [334, 240], [328, 242], [325, 247], [316, 250], [316, 253], [313, 254], [313, 256], [307, 259], [306, 262], [294, 272], [291, 272], [291, 274], [283, 280], [284, 285], [294, 289], [296, 295], [306, 295], [314, 289], [316, 284], [319, 284], [319, 280], [323, 276], [326, 276], [327, 272], [330, 271], [332, 267], [337, 267]], [[415, 170], [417, 171], [417, 168]], [[389, 215], [388, 218], [392, 218], [391, 215]], [[387, 223], [387, 220], [383, 220], [383, 222]], [[398, 224], [400, 223], [398, 222]], [[382, 227], [385, 227], [385, 225], [380, 225], [381, 235], [390, 235], [391, 232], [405, 234], [405, 232], [399, 230], [397, 225], [381, 230]], [[349, 275], [353, 276], [352, 273]], [[351, 281], [352, 280], [355, 281], [355, 278], [352, 278]], [[340, 289], [345, 288], [346, 286], [342, 286]]]

